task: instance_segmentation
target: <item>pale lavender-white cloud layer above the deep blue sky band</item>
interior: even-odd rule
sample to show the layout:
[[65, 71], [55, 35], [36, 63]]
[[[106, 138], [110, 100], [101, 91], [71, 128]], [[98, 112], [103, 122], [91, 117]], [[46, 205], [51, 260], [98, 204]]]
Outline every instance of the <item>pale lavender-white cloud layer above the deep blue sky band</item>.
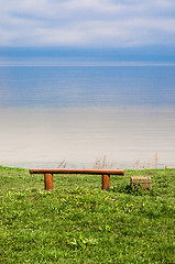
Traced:
[[0, 0], [1, 46], [175, 44], [174, 0]]

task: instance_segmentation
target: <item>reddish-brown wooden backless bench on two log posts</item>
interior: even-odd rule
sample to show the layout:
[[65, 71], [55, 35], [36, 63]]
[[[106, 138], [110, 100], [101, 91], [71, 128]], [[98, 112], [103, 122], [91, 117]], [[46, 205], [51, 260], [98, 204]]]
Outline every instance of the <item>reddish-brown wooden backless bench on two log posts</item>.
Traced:
[[110, 175], [124, 175], [124, 169], [31, 168], [31, 174], [44, 174], [45, 190], [53, 190], [53, 174], [102, 175], [102, 189], [110, 187]]

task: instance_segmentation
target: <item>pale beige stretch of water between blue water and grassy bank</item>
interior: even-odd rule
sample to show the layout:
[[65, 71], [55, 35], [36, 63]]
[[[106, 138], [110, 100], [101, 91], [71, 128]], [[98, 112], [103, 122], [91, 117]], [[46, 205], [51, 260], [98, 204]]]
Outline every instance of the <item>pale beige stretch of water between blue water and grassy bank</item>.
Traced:
[[175, 166], [175, 110], [146, 108], [3, 109], [0, 163], [22, 167]]

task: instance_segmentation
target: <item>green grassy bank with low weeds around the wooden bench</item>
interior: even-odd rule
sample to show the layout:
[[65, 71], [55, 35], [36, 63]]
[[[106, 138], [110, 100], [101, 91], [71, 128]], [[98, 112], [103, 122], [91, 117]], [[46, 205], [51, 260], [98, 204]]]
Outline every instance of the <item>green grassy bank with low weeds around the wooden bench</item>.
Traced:
[[[150, 176], [152, 191], [129, 188]], [[44, 177], [0, 166], [0, 263], [175, 263], [175, 169]]]

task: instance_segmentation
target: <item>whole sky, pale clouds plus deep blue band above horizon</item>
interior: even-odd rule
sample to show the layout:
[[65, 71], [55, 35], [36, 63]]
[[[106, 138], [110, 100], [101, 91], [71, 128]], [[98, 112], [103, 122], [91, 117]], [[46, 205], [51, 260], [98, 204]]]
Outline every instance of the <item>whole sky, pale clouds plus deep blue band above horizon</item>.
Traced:
[[1, 65], [17, 57], [175, 64], [175, 0], [0, 0], [0, 18]]

